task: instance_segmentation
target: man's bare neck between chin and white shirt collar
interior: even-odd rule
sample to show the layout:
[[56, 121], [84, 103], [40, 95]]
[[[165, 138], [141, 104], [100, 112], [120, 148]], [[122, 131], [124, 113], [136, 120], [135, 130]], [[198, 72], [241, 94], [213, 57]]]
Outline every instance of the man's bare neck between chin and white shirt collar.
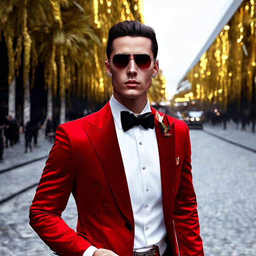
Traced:
[[113, 96], [118, 102], [120, 102], [122, 105], [124, 105], [129, 110], [131, 110], [133, 113], [137, 113], [137, 114], [142, 112], [142, 110], [147, 105], [147, 101], [148, 101], [148, 99], [147, 99], [148, 93], [147, 92], [145, 92], [144, 94], [142, 94], [141, 96], [139, 96], [137, 98], [128, 98], [128, 97], [124, 97], [119, 92], [115, 93], [115, 91], [114, 91]]

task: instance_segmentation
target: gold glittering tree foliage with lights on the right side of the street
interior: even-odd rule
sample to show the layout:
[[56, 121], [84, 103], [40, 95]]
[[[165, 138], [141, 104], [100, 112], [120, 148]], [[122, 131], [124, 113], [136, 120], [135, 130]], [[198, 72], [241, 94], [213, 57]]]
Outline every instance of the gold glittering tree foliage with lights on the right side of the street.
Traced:
[[[243, 1], [229, 23], [224, 26], [200, 61], [183, 80], [189, 80], [193, 96], [204, 103], [228, 104], [246, 99], [255, 109], [255, 3]], [[207, 105], [207, 104], [206, 104]]]

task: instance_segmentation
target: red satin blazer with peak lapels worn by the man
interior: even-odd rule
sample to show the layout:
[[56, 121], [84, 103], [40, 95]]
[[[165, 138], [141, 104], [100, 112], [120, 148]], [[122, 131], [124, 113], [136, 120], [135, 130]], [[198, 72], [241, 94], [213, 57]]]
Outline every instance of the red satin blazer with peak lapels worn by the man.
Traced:
[[[184, 121], [167, 117], [169, 137], [155, 118], [167, 236], [173, 255], [202, 256], [189, 130]], [[61, 218], [70, 193], [77, 205], [77, 232]], [[29, 219], [59, 255], [82, 256], [91, 245], [120, 256], [133, 254], [132, 205], [109, 101], [98, 112], [57, 127]]]

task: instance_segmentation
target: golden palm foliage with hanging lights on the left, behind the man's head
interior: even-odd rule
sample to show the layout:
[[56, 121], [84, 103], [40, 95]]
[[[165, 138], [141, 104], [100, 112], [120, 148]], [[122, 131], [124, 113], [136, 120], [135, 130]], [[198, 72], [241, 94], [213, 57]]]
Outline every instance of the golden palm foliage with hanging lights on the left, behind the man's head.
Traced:
[[[54, 97], [59, 91], [61, 98], [67, 92], [104, 102], [113, 92], [104, 64], [108, 30], [124, 20], [144, 23], [142, 12], [142, 0], [2, 0], [0, 28], [8, 51], [9, 84], [22, 64], [24, 85], [32, 68], [32, 88], [39, 59], [45, 89], [53, 88]], [[155, 85], [159, 88], [153, 82], [149, 95], [152, 91], [151, 98], [162, 99]]]

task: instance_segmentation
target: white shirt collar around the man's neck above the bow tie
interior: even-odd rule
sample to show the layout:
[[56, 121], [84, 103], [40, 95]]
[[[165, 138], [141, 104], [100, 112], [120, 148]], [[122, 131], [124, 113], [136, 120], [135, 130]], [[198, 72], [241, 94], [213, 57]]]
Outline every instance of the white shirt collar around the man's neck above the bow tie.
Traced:
[[[121, 104], [119, 101], [117, 101], [114, 98], [114, 94], [112, 94], [110, 100], [109, 100], [109, 105], [112, 111], [112, 115], [118, 125], [118, 128], [121, 130], [122, 129], [122, 124], [121, 124], [121, 115], [120, 112], [121, 111], [129, 111], [130, 114], [134, 112], [132, 112], [130, 109], [128, 109], [127, 107], [125, 107], [123, 104]], [[136, 113], [136, 114], [144, 114], [147, 112], [152, 112], [151, 108], [150, 108], [150, 104], [149, 104], [149, 99], [147, 98], [147, 104], [145, 106], [145, 108], [141, 111], [141, 113]]]

